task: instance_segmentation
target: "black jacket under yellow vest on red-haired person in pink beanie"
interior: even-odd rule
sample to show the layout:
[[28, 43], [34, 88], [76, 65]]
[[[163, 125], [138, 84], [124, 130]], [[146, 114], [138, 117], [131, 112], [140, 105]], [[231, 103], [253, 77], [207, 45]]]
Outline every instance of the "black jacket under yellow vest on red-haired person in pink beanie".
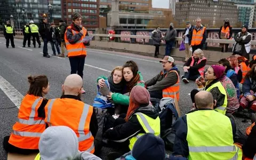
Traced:
[[[134, 114], [135, 113], [142, 113], [153, 119], [158, 117], [158, 113], [152, 105], [147, 105], [144, 107], [141, 106], [134, 111]], [[131, 116], [128, 122], [115, 126], [113, 130], [107, 130], [103, 137], [113, 141], [125, 142], [129, 141], [130, 138], [139, 133], [145, 133], [137, 119], [137, 116], [134, 114]]]

